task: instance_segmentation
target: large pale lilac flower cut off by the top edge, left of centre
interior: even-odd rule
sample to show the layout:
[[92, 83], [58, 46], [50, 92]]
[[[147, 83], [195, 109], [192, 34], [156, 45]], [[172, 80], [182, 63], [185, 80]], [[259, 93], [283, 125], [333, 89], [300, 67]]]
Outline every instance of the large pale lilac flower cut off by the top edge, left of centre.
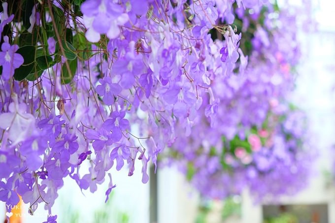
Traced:
[[84, 24], [88, 31], [86, 38], [91, 42], [98, 42], [100, 34], [106, 33], [107, 37], [114, 39], [120, 34], [119, 26], [128, 22], [127, 13], [123, 13], [120, 4], [110, 0], [86, 0], [81, 5], [84, 14]]

